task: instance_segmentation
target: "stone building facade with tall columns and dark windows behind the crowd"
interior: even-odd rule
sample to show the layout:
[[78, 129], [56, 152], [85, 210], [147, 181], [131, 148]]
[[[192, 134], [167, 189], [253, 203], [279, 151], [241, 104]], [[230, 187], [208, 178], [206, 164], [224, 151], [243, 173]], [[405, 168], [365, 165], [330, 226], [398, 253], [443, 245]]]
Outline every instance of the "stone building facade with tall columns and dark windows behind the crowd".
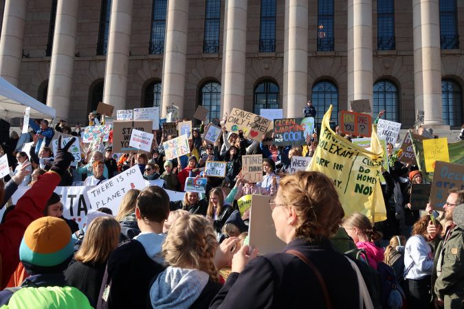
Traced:
[[458, 128], [464, 119], [461, 0], [0, 5], [0, 76], [72, 123], [85, 122], [100, 100], [175, 103], [188, 118], [203, 104], [212, 118], [233, 106], [295, 117], [312, 98], [320, 119], [329, 104], [336, 112], [368, 98], [404, 126], [417, 109], [430, 125]]

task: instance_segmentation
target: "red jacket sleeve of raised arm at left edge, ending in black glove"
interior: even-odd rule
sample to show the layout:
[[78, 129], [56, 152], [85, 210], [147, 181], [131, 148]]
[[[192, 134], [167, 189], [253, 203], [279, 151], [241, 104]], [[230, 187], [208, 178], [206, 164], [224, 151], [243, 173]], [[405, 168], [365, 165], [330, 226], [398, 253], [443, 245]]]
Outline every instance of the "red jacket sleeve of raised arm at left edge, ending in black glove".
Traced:
[[19, 263], [19, 245], [30, 222], [43, 217], [45, 205], [61, 177], [47, 172], [38, 177], [34, 185], [19, 198], [3, 225], [0, 225], [0, 290], [8, 284]]

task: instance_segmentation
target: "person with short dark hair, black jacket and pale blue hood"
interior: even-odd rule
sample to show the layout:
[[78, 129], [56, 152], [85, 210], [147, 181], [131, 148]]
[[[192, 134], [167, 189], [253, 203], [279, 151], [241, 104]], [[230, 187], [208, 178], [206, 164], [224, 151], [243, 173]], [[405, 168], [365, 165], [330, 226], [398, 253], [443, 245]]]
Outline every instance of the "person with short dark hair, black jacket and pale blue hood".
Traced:
[[151, 186], [140, 192], [135, 205], [140, 234], [120, 244], [109, 256], [98, 309], [145, 308], [151, 279], [164, 271], [159, 253], [168, 216], [169, 196], [163, 188]]

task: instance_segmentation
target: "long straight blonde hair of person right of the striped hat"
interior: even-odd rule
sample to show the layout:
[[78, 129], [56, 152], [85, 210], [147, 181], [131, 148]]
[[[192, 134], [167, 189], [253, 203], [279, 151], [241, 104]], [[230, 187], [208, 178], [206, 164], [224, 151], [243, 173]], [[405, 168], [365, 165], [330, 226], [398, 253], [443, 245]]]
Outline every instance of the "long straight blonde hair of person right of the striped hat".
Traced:
[[82, 263], [102, 264], [107, 262], [109, 254], [118, 246], [121, 226], [110, 217], [100, 217], [93, 220], [80, 249], [74, 255], [76, 261]]

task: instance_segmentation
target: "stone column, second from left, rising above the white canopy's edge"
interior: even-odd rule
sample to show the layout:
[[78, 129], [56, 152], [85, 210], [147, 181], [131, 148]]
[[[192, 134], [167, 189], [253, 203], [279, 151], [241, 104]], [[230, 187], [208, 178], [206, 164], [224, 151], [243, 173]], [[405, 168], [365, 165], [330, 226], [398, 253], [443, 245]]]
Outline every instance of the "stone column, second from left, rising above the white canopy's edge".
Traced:
[[58, 0], [47, 103], [69, 122], [79, 0]]

